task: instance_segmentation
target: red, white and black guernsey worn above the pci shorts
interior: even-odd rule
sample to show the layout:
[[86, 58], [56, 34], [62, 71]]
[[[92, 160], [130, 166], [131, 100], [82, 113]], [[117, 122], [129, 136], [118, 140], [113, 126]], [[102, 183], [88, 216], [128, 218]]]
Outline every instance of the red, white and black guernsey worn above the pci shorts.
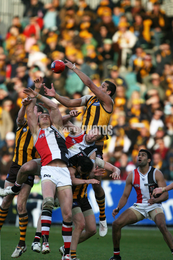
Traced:
[[47, 165], [54, 159], [61, 159], [68, 164], [68, 150], [65, 145], [65, 137], [52, 125], [45, 129], [40, 128], [34, 147], [41, 157], [42, 166]]

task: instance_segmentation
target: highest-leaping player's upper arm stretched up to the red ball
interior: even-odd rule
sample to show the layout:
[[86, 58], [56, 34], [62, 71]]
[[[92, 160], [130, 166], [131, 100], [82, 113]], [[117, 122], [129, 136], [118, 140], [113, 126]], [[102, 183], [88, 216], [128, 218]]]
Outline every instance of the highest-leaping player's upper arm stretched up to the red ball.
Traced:
[[[111, 97], [109, 96], [109, 93], [106, 94], [103, 91], [101, 91], [87, 75], [85, 75], [82, 71], [80, 71], [78, 68], [76, 68], [75, 63], [72, 64], [72, 62], [69, 62], [68, 60], [65, 60], [65, 61], [67, 62], [67, 63], [65, 63], [65, 66], [67, 66], [71, 70], [74, 70], [74, 72], [78, 75], [78, 77], [80, 77], [82, 82], [87, 87], [89, 87], [89, 89], [95, 94], [95, 96], [97, 96], [99, 101], [103, 104], [104, 108], [108, 112], [111, 112], [113, 102], [112, 102]], [[103, 82], [102, 85], [103, 85], [104, 88], [107, 89], [105, 82]]]

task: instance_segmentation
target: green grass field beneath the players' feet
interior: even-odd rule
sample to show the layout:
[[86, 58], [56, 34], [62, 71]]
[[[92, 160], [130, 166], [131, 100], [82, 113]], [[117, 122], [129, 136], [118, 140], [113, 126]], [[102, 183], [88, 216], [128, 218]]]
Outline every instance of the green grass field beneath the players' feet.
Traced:
[[[172, 229], [170, 232], [173, 234]], [[50, 228], [49, 245], [51, 253], [48, 255], [38, 254], [31, 250], [31, 244], [35, 235], [33, 227], [27, 228], [26, 244], [27, 251], [22, 254], [22, 260], [61, 260], [59, 247], [63, 245], [61, 226], [52, 225]], [[15, 226], [4, 225], [1, 230], [1, 260], [12, 259], [11, 255], [19, 241], [19, 229]], [[131, 226], [122, 230], [120, 252], [122, 260], [168, 260], [172, 254], [165, 243], [162, 234], [156, 228], [139, 228]], [[113, 255], [112, 229], [108, 227], [105, 237], [97, 234], [89, 240], [78, 245], [78, 258], [81, 260], [108, 260]]]

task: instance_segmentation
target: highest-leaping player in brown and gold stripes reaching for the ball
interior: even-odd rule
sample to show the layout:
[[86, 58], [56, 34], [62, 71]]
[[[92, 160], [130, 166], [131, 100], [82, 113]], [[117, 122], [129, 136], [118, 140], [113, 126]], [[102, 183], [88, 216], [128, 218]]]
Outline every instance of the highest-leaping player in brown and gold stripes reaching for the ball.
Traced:
[[[86, 133], [88, 133], [88, 131], [91, 130], [91, 128], [94, 125], [100, 125], [102, 128], [104, 128], [104, 126], [107, 127], [114, 107], [114, 103], [111, 96], [113, 96], [116, 92], [115, 84], [106, 80], [101, 84], [101, 86], [97, 87], [88, 76], [86, 76], [84, 73], [82, 73], [82, 71], [76, 68], [75, 64], [72, 64], [68, 60], [66, 60], [66, 62], [67, 63], [65, 63], [65, 65], [69, 69], [73, 70], [78, 75], [78, 77], [80, 77], [82, 82], [89, 87], [89, 89], [95, 94], [95, 96], [85, 95], [80, 99], [69, 100], [68, 98], [56, 94], [53, 88], [53, 84], [51, 89], [48, 89], [44, 86], [45, 95], [54, 97], [62, 105], [66, 107], [86, 106], [86, 110], [82, 121], [82, 129], [86, 131]], [[102, 150], [104, 140], [106, 140], [106, 137], [103, 140], [100, 140], [96, 143], [96, 156], [101, 159], [103, 159]], [[97, 179], [100, 181], [100, 183], [93, 184], [93, 190], [95, 192], [95, 198], [100, 211], [99, 234], [101, 237], [104, 237], [108, 230], [105, 215], [105, 193], [103, 188], [101, 187], [101, 177], [98, 177]]]

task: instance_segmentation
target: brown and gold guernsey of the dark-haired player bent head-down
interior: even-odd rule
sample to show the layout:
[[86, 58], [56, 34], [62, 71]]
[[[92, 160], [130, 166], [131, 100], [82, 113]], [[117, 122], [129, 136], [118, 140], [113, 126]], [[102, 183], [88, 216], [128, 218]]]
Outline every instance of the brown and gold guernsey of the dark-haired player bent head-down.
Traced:
[[[76, 167], [74, 167], [74, 168], [76, 169]], [[83, 174], [82, 176], [80, 176], [80, 174], [78, 174], [78, 172], [76, 172], [75, 177], [78, 179], [82, 179], [82, 180], [89, 179], [88, 174]], [[86, 183], [77, 185], [77, 186], [72, 186], [73, 199], [81, 200], [82, 198], [86, 198], [87, 197], [87, 187], [88, 187], [88, 184], [86, 184]]]

